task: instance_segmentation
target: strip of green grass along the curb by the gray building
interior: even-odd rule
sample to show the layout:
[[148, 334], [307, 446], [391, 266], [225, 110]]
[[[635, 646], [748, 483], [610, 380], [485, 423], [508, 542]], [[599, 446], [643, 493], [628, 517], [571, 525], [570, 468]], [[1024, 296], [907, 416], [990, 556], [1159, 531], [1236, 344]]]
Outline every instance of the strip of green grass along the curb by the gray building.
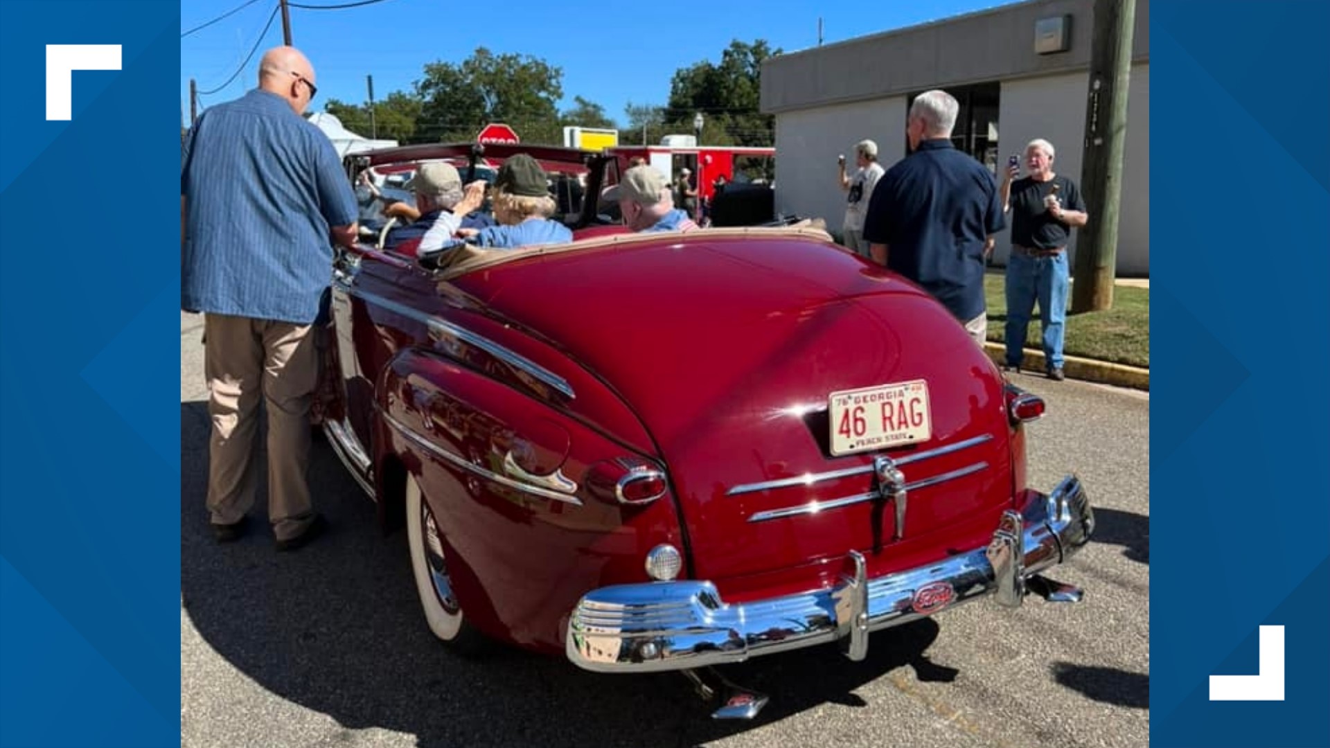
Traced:
[[[1001, 342], [1007, 327], [1007, 297], [1000, 270], [984, 277], [984, 294], [988, 298], [988, 339]], [[1040, 347], [1039, 315], [1036, 306], [1025, 335], [1027, 349]], [[1115, 286], [1112, 309], [1068, 314], [1063, 353], [1149, 369], [1150, 290]]]

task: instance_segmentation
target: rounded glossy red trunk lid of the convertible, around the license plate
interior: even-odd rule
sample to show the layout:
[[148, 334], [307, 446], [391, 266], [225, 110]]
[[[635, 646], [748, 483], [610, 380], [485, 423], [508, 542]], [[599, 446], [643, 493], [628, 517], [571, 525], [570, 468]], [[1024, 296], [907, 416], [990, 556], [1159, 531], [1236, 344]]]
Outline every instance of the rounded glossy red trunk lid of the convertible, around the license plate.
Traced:
[[[943, 554], [1011, 500], [1007, 415], [983, 353], [935, 301], [807, 240], [676, 234], [517, 262], [459, 285], [559, 341], [640, 414], [669, 467], [693, 570], [726, 579], [850, 550]], [[923, 381], [926, 441], [834, 457], [831, 393]], [[904, 523], [874, 458], [898, 461]], [[926, 554], [927, 555], [927, 554]]]

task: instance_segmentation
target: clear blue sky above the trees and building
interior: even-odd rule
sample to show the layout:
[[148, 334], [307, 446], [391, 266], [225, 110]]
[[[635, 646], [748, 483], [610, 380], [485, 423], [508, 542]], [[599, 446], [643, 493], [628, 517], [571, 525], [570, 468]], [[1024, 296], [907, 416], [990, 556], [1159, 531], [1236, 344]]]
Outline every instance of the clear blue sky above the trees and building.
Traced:
[[[186, 0], [181, 31], [205, 24], [249, 0]], [[290, 0], [334, 5], [354, 0]], [[450, 3], [383, 0], [371, 5], [314, 11], [291, 8], [291, 39], [314, 63], [319, 98], [366, 100], [366, 75], [374, 76], [375, 98], [411, 91], [426, 63], [459, 63], [476, 47], [541, 57], [563, 68], [564, 105], [583, 96], [605, 106], [622, 124], [624, 105], [665, 104], [674, 71], [701, 60], [718, 61], [730, 40], [765, 39], [786, 52], [817, 47], [818, 17], [823, 43], [843, 41], [984, 8], [1011, 0], [770, 0], [766, 3], [569, 3], [557, 0]], [[222, 87], [241, 69], [250, 49], [258, 52], [226, 88], [202, 96], [201, 106], [241, 96], [254, 87], [258, 57], [282, 43], [281, 13], [259, 37], [277, 0], [253, 4], [194, 32], [180, 44], [181, 102], [189, 112], [189, 79], [201, 92]], [[503, 9], [501, 12], [499, 9]], [[520, 133], [519, 133], [520, 134]]]

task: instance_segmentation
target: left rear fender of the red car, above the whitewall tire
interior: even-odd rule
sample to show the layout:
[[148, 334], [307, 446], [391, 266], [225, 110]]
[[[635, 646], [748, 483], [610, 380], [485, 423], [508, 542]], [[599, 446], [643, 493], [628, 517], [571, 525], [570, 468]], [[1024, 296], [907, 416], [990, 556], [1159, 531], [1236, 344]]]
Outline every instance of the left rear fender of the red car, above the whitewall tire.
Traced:
[[668, 491], [625, 506], [588, 484], [593, 466], [649, 455], [481, 371], [403, 351], [376, 411], [379, 463], [419, 482], [459, 564], [458, 599], [491, 636], [559, 651], [561, 616], [587, 590], [646, 582], [660, 543], [686, 552]]

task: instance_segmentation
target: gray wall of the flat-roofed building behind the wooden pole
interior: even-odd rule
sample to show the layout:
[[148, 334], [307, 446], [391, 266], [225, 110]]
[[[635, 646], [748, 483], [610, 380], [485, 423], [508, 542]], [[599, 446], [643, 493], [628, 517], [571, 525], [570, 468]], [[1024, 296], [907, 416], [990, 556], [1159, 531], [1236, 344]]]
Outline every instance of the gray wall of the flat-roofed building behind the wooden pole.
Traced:
[[[835, 157], [853, 162], [868, 137], [891, 168], [904, 156], [906, 96], [999, 81], [1003, 158], [1035, 137], [1057, 149], [1055, 170], [1080, 181], [1089, 83], [1092, 0], [1035, 0], [767, 60], [762, 110], [775, 114], [777, 210], [841, 229]], [[1035, 21], [1069, 15], [1071, 48], [1036, 55]], [[1149, 0], [1137, 0], [1117, 270], [1149, 273]], [[1008, 236], [999, 237], [1005, 262]], [[1075, 249], [1075, 242], [1073, 242]]]

